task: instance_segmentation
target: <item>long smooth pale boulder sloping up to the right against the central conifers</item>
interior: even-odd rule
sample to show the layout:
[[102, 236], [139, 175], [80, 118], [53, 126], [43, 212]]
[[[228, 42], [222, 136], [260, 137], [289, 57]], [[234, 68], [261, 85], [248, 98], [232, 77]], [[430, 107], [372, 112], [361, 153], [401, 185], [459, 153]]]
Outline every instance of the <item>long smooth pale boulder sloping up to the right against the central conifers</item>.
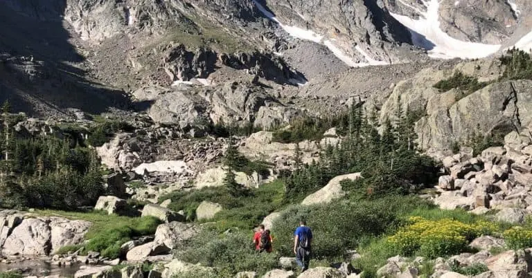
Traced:
[[330, 203], [332, 200], [341, 198], [342, 196], [344, 196], [345, 192], [342, 189], [342, 185], [340, 185], [340, 182], [342, 180], [357, 180], [359, 178], [362, 178], [360, 173], [346, 174], [346, 175], [332, 178], [325, 187], [307, 196], [303, 200], [303, 202], [301, 202], [301, 205], [315, 205], [318, 203]]

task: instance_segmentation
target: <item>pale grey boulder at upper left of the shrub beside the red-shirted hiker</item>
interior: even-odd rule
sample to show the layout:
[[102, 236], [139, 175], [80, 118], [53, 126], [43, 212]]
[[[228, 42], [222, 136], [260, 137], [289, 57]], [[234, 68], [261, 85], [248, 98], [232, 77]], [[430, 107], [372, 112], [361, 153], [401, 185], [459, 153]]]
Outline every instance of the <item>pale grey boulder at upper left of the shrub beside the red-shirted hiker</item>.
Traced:
[[174, 249], [182, 241], [194, 237], [200, 232], [197, 225], [181, 222], [164, 223], [157, 226], [155, 242], [164, 243], [166, 247]]

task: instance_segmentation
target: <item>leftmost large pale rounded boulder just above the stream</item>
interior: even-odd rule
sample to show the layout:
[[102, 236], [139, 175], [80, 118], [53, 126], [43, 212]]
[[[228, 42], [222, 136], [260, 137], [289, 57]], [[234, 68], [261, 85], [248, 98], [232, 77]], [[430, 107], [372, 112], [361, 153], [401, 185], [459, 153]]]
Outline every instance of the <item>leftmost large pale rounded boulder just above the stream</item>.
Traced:
[[51, 229], [41, 219], [24, 219], [3, 243], [3, 254], [47, 255], [52, 249]]

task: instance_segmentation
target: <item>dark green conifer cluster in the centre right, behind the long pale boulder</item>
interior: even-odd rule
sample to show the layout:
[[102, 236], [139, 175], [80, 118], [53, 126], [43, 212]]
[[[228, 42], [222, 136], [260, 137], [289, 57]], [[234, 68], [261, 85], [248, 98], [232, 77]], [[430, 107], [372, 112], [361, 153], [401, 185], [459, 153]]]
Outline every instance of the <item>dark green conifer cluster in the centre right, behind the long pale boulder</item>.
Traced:
[[346, 114], [339, 115], [348, 118], [344, 140], [324, 147], [318, 161], [298, 163], [285, 178], [287, 203], [301, 201], [335, 176], [355, 172], [364, 178], [345, 183], [344, 189], [357, 196], [408, 194], [434, 182], [436, 163], [421, 155], [415, 142], [414, 123], [420, 113], [399, 107], [393, 119], [380, 126], [375, 112], [365, 113], [360, 105], [351, 106]]

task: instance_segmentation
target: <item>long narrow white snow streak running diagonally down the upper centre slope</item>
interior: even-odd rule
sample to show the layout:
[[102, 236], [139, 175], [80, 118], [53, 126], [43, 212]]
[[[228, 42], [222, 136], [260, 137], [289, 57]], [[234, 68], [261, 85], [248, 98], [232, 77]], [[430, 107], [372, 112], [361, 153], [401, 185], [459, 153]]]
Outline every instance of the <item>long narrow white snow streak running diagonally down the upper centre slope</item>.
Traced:
[[[278, 21], [278, 19], [272, 14], [272, 12], [269, 12], [268, 10], [266, 10], [256, 0], [253, 0], [253, 3], [255, 3], [258, 10], [260, 10], [260, 12], [262, 12], [265, 15], [265, 17], [267, 17], [271, 21], [276, 22], [276, 24], [278, 24], [281, 28], [283, 28], [283, 30], [285, 30], [286, 33], [288, 33], [292, 37], [295, 37], [298, 39], [305, 39], [308, 41], [314, 41], [318, 44], [323, 44], [324, 46], [329, 48], [332, 54], [334, 54], [338, 59], [346, 63], [348, 66], [360, 67], [360, 66], [376, 66], [376, 65], [388, 64], [387, 62], [382, 62], [382, 61], [373, 59], [358, 46], [355, 49], [358, 52], [360, 52], [360, 54], [362, 54], [368, 62], [367, 63], [355, 62], [353, 60], [353, 57], [344, 53], [342, 49], [340, 49], [338, 46], [336, 46], [336, 44], [334, 44], [333, 39], [324, 39], [323, 35], [319, 35], [312, 30], [305, 30], [303, 28], [299, 28], [296, 26], [288, 26], [288, 25], [282, 24], [281, 21]], [[304, 17], [302, 17], [301, 15], [299, 16], [304, 19]]]

